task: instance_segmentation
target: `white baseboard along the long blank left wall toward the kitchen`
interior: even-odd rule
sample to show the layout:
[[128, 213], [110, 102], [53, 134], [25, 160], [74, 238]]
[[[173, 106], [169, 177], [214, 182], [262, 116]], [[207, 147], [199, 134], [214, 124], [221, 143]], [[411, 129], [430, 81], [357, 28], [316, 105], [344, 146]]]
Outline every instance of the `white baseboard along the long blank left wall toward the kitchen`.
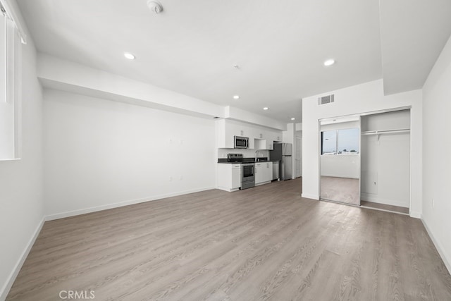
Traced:
[[78, 209], [78, 210], [73, 210], [73, 211], [66, 211], [66, 212], [61, 212], [61, 213], [57, 213], [57, 214], [50, 214], [48, 216], [45, 216], [45, 220], [53, 221], [54, 219], [64, 219], [64, 218], [70, 217], [70, 216], [77, 216], [80, 214], [87, 214], [87, 213], [92, 213], [92, 212], [106, 210], [106, 209], [113, 209], [113, 208], [128, 206], [128, 205], [132, 205], [132, 204], [150, 202], [150, 201], [155, 201], [157, 199], [164, 199], [166, 197], [177, 197], [178, 195], [187, 195], [188, 193], [200, 192], [200, 191], [211, 190], [211, 189], [215, 189], [215, 188], [214, 187], [199, 188], [199, 189], [185, 190], [185, 191], [180, 191], [180, 192], [166, 193], [163, 195], [155, 195], [153, 197], [144, 197], [142, 199], [130, 199], [130, 200], [124, 201], [124, 202], [106, 204], [106, 205], [101, 205], [101, 206], [97, 206], [97, 207], [89, 207], [89, 208]]

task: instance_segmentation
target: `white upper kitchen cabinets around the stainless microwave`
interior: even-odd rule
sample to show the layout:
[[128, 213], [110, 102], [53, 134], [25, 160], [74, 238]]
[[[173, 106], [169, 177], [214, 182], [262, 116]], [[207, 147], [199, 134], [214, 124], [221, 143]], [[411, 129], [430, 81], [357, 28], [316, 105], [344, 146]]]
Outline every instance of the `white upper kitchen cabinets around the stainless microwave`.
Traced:
[[282, 140], [282, 132], [258, 125], [221, 119], [218, 126], [218, 148], [233, 148], [233, 136], [249, 138], [249, 149], [273, 149], [274, 141]]

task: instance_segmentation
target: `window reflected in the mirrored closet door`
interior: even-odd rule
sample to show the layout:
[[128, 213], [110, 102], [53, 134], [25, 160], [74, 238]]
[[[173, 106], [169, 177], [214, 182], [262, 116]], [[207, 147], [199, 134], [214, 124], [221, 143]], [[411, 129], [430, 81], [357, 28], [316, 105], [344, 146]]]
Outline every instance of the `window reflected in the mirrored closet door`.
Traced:
[[358, 128], [321, 132], [321, 154], [359, 154]]

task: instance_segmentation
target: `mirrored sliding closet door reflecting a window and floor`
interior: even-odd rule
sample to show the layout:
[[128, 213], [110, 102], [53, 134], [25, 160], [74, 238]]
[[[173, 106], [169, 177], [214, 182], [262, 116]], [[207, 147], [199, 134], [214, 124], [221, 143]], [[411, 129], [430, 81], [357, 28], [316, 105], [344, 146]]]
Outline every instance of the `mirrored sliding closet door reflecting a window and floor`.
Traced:
[[320, 126], [320, 198], [360, 205], [360, 118], [328, 118]]

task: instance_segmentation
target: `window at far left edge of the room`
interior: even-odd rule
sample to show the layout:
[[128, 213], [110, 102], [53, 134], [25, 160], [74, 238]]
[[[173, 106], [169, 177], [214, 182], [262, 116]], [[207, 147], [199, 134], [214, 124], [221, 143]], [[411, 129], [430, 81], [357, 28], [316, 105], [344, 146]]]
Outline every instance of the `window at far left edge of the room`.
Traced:
[[21, 44], [25, 44], [13, 13], [0, 0], [0, 160], [18, 154], [18, 102], [20, 98]]

